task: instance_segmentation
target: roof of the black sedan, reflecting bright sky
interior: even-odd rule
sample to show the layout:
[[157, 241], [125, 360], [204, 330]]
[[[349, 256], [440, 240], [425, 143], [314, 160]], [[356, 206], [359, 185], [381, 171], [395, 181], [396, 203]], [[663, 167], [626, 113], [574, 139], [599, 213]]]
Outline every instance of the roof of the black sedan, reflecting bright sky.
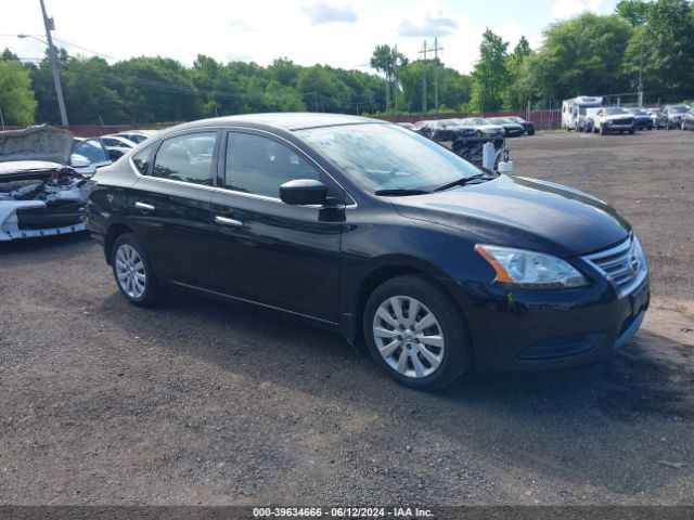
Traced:
[[184, 130], [200, 127], [226, 127], [233, 125], [264, 125], [282, 128], [284, 130], [301, 130], [305, 128], [333, 127], [337, 125], [358, 123], [386, 123], [380, 119], [371, 119], [360, 116], [346, 116], [343, 114], [285, 112], [274, 114], [244, 114], [237, 116], [215, 117], [211, 119], [201, 119], [197, 121], [184, 122], [168, 130]]

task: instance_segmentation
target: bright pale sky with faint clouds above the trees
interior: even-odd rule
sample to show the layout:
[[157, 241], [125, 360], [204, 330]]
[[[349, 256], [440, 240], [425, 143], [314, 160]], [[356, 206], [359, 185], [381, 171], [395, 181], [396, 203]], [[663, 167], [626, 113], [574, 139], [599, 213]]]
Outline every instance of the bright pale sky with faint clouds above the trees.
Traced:
[[[369, 72], [377, 44], [421, 57], [424, 40], [438, 39], [442, 62], [470, 73], [486, 27], [532, 48], [551, 23], [584, 11], [608, 14], [617, 0], [44, 0], [54, 38], [70, 54], [100, 53], [111, 63], [162, 55], [190, 66], [197, 54], [220, 62], [268, 65], [287, 57], [299, 65], [327, 64]], [[43, 55], [39, 0], [0, 0], [0, 50], [23, 58]], [[184, 6], [183, 6], [184, 5]], [[69, 43], [69, 44], [67, 44]], [[76, 46], [76, 47], [75, 47]]]

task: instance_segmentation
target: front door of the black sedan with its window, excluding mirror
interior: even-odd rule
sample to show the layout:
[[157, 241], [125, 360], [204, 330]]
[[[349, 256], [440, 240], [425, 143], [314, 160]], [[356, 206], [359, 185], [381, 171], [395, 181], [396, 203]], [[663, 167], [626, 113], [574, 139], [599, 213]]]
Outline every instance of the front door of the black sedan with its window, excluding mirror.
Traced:
[[[223, 139], [213, 197], [214, 256], [227, 295], [337, 323], [344, 192], [301, 151], [265, 132]], [[280, 185], [320, 180], [338, 207], [290, 206]]]

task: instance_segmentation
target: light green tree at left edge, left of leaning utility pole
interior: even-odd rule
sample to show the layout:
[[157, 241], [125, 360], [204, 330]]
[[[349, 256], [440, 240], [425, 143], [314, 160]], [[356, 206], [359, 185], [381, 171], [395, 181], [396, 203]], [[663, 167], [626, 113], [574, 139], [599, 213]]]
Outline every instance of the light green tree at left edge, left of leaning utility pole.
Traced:
[[31, 125], [37, 102], [29, 70], [18, 61], [0, 60], [0, 110], [5, 123]]

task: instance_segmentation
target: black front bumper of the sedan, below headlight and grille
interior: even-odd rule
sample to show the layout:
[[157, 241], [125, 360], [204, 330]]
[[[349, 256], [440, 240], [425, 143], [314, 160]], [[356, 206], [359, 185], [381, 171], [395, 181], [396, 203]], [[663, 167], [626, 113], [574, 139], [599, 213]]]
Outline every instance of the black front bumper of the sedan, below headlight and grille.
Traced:
[[[460, 289], [463, 290], [460, 290]], [[458, 287], [478, 366], [536, 372], [609, 356], [637, 333], [650, 301], [647, 276], [619, 297], [604, 281], [565, 290], [486, 284]]]

